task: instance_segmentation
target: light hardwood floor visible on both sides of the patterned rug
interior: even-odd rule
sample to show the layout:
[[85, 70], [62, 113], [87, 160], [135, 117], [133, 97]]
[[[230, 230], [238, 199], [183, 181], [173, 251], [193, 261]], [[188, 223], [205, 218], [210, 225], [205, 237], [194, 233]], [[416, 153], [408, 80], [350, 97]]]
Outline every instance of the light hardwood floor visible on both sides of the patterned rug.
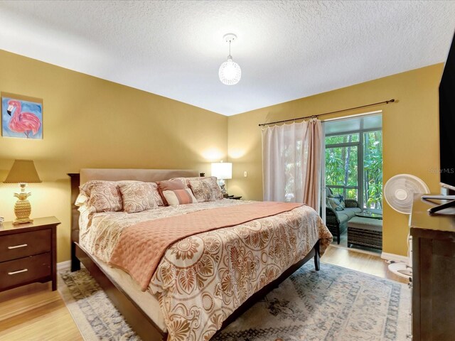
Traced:
[[[379, 256], [328, 247], [321, 261], [407, 283], [390, 273]], [[58, 291], [34, 283], [0, 293], [0, 340], [72, 341], [82, 336]]]

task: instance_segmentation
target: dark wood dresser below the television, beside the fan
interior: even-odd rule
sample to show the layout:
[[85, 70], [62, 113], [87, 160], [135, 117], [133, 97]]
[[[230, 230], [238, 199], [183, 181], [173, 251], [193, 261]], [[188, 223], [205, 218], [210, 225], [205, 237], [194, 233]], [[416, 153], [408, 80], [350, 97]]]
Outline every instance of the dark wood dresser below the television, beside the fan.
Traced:
[[430, 207], [414, 196], [412, 340], [455, 340], [455, 210], [429, 215]]

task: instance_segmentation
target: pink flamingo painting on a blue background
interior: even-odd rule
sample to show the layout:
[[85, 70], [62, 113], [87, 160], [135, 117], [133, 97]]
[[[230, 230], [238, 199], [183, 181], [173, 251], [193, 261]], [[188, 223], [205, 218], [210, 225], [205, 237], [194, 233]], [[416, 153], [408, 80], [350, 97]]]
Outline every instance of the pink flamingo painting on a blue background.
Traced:
[[3, 136], [43, 139], [43, 104], [19, 99], [1, 99]]

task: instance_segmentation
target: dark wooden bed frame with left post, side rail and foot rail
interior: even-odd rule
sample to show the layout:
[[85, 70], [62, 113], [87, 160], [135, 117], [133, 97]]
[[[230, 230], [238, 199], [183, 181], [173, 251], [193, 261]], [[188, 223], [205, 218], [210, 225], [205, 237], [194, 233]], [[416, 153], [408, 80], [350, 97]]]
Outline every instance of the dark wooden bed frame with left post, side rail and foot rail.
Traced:
[[[125, 320], [131, 325], [133, 330], [142, 340], [151, 341], [166, 341], [167, 332], [154, 323], [153, 320], [144, 313], [139, 305], [120, 287], [117, 283], [97, 265], [95, 260], [90, 254], [87, 254], [79, 246], [79, 211], [75, 205], [77, 195], [79, 195], [80, 174], [68, 173], [71, 178], [71, 271], [80, 270], [80, 262], [90, 271], [90, 274], [95, 278], [101, 288], [105, 291], [109, 299], [124, 316]], [[164, 180], [164, 179], [163, 179]], [[286, 278], [294, 274], [302, 265], [310, 259], [314, 259], [314, 267], [319, 271], [319, 241], [316, 242], [313, 249], [309, 251], [304, 259], [290, 266], [283, 272], [279, 278], [275, 279], [272, 283], [267, 284], [261, 290], [257, 291], [253, 296], [247, 299], [245, 303], [240, 305], [223, 323], [221, 329], [232, 323], [242, 313], [252, 307], [259, 299], [263, 298], [269, 291], [279, 286]]]

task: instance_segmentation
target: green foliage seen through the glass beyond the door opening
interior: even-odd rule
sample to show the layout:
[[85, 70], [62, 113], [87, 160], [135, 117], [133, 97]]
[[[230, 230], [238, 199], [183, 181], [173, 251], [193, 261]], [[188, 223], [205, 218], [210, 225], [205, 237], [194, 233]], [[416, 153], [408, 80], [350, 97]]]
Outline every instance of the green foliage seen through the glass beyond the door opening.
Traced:
[[[382, 208], [382, 131], [363, 133], [363, 184], [358, 184], [359, 134], [328, 136], [326, 146], [351, 144], [326, 148], [326, 185], [346, 199], [359, 200], [357, 188], [363, 187], [363, 205], [366, 208]], [[360, 165], [362, 167], [362, 165]], [[356, 188], [348, 188], [356, 187]], [[359, 200], [360, 201], [360, 200]]]

